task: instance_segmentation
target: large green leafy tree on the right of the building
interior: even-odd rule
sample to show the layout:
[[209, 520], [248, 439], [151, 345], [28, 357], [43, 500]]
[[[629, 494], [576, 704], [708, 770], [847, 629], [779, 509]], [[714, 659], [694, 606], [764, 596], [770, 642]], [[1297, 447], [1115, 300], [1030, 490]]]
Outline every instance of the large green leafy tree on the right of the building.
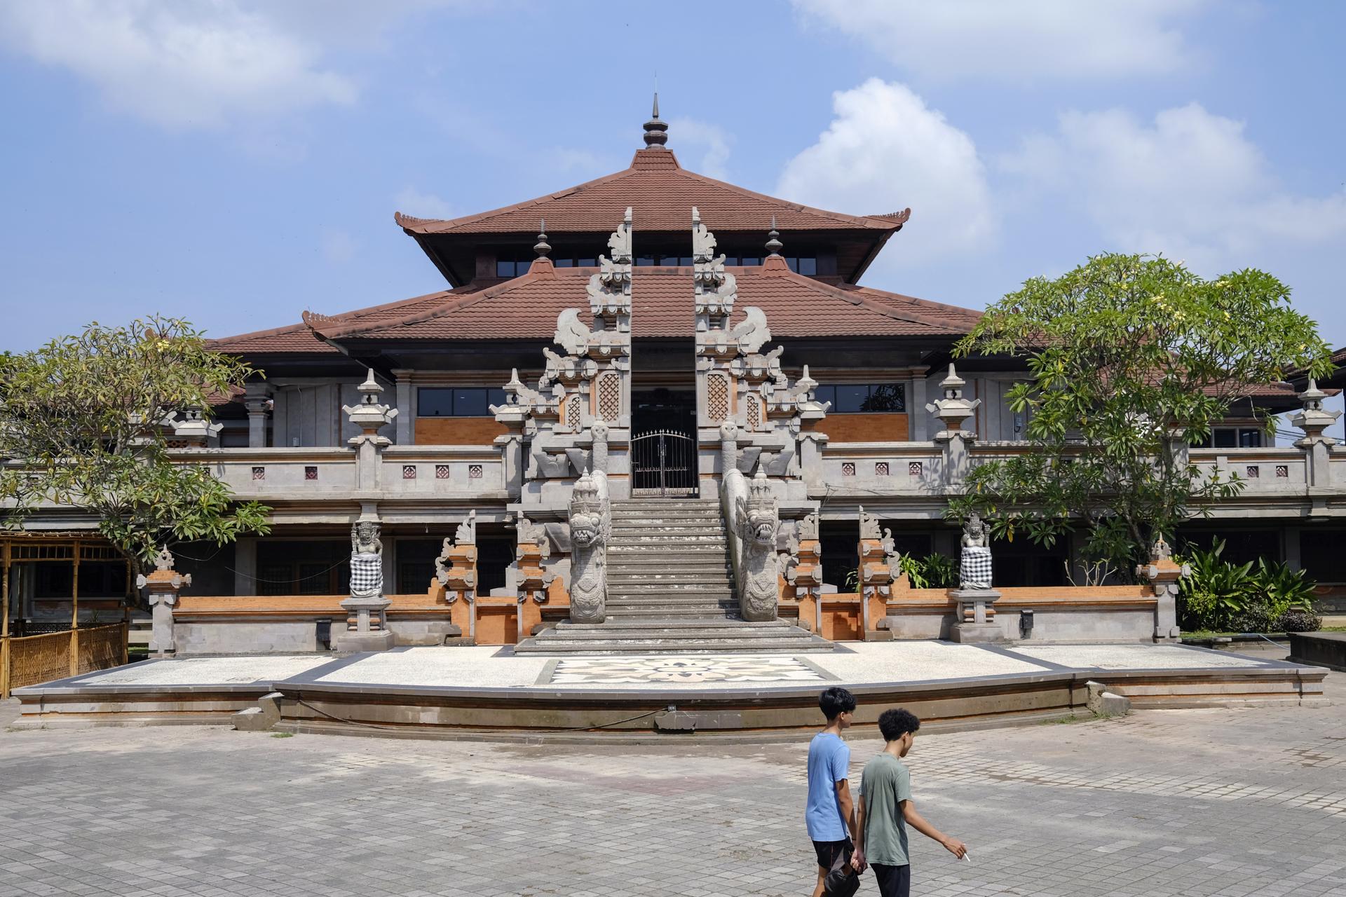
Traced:
[[1026, 358], [1030, 379], [1008, 402], [1027, 418], [1032, 451], [976, 467], [949, 515], [977, 510], [996, 537], [1047, 546], [1077, 530], [1086, 558], [1123, 570], [1155, 535], [1171, 538], [1244, 487], [1203, 473], [1184, 442], [1287, 371], [1330, 370], [1314, 321], [1271, 274], [1203, 280], [1166, 258], [1121, 254], [1027, 281], [956, 354]]

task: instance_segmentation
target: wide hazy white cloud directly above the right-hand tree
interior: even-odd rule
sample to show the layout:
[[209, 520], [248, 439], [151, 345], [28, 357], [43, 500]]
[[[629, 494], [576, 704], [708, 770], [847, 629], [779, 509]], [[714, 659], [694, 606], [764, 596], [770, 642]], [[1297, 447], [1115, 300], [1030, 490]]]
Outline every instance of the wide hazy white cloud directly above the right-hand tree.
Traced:
[[1110, 249], [1163, 253], [1203, 273], [1346, 238], [1346, 191], [1288, 191], [1244, 122], [1198, 104], [1152, 122], [1120, 109], [1069, 112], [1000, 168], [1089, 217]]

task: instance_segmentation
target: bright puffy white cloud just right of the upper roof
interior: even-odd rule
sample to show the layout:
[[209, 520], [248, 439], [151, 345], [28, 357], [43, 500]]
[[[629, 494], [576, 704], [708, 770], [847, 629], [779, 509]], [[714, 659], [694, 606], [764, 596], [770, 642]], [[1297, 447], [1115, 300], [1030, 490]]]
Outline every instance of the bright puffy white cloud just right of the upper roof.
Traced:
[[836, 117], [785, 165], [777, 195], [820, 208], [880, 214], [911, 207], [884, 264], [911, 265], [995, 235], [985, 168], [962, 130], [905, 85], [871, 78], [832, 94]]

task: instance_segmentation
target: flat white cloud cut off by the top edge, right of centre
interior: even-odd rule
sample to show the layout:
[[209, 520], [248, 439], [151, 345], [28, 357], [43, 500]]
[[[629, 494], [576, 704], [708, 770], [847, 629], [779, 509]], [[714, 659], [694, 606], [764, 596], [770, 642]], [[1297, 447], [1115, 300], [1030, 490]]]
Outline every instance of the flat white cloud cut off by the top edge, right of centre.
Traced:
[[926, 78], [1164, 74], [1195, 52], [1178, 24], [1205, 0], [794, 0]]

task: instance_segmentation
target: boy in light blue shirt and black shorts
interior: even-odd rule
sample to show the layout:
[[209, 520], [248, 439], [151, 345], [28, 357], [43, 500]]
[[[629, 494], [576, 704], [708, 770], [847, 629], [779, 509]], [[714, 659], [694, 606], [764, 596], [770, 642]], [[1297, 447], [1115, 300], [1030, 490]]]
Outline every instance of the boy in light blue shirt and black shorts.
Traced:
[[828, 725], [809, 742], [809, 806], [804, 814], [818, 858], [813, 897], [822, 897], [822, 880], [837, 854], [851, 854], [855, 843], [855, 808], [847, 784], [851, 748], [841, 741], [841, 733], [851, 728], [855, 695], [833, 686], [818, 697], [818, 707]]

